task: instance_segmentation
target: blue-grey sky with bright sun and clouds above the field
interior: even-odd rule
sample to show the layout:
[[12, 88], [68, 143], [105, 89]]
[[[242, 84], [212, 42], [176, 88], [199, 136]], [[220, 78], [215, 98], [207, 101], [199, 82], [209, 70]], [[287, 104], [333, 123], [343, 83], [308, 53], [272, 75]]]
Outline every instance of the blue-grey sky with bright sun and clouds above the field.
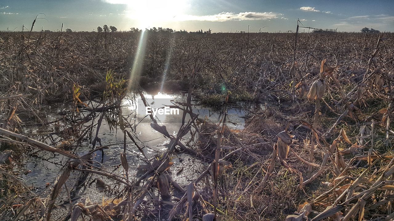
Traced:
[[[212, 32], [295, 31], [306, 27], [394, 31], [393, 0], [0, 0], [0, 30], [93, 31], [97, 26]], [[301, 28], [301, 32], [308, 29]]]

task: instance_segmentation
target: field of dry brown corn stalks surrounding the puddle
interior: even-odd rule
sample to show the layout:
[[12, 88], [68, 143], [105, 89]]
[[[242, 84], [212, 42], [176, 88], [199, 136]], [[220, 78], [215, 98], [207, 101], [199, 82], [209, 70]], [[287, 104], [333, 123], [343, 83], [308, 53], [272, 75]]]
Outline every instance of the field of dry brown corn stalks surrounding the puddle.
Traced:
[[[393, 39], [392, 33], [299, 33], [295, 50], [294, 33], [1, 32], [0, 214], [6, 220], [392, 220]], [[149, 115], [151, 130], [168, 140], [149, 156], [137, 138], [138, 122], [122, 114], [122, 105], [158, 92], [184, 95], [171, 105], [183, 110], [182, 123], [172, 133]], [[220, 118], [196, 114], [195, 104]], [[53, 106], [64, 107], [61, 120], [45, 117]], [[233, 107], [247, 112], [240, 128], [230, 127]], [[121, 143], [101, 144], [108, 116], [115, 116]], [[26, 133], [27, 120], [45, 131]], [[83, 154], [76, 151], [82, 143]], [[121, 151], [110, 170], [95, 156], [104, 158], [113, 145]], [[130, 160], [134, 153], [138, 162]], [[22, 179], [32, 156], [66, 159], [40, 190]], [[187, 166], [197, 175], [186, 183], [178, 183], [178, 157], [202, 165]], [[89, 182], [104, 186], [102, 201], [74, 191]], [[54, 218], [60, 198], [68, 204]]]

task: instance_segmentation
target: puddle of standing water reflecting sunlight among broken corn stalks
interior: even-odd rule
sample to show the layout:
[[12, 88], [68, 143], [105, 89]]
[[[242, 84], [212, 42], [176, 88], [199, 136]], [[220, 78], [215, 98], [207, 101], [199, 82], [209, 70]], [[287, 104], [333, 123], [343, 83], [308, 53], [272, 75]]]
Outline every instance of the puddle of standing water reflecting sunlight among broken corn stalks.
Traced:
[[[147, 98], [148, 103], [152, 107], [163, 107], [164, 105], [172, 105], [171, 102], [186, 101], [186, 94], [183, 93], [172, 93], [172, 94], [148, 94], [145, 93], [144, 96]], [[123, 152], [123, 139], [124, 134], [121, 129], [119, 129], [119, 125], [122, 123], [127, 123], [128, 125], [132, 125], [133, 131], [132, 134], [141, 142], [141, 146], [143, 146], [143, 150], [148, 158], [154, 157], [156, 154], [160, 154], [163, 152], [165, 147], [164, 145], [168, 143], [168, 140], [160, 133], [152, 129], [151, 127], [151, 119], [149, 116], [139, 114], [137, 111], [138, 107], [136, 101], [138, 101], [139, 96], [130, 94], [128, 98], [124, 99], [121, 103], [121, 112], [113, 113], [108, 112], [103, 118], [101, 127], [99, 129], [99, 138], [101, 145], [111, 145], [108, 149], [104, 149], [104, 155], [102, 155], [101, 151], [95, 152], [95, 160], [96, 166], [100, 166], [102, 168], [107, 169], [108, 171], [114, 171], [117, 167], [116, 165], [120, 164], [119, 154]], [[169, 101], [170, 103], [163, 103], [164, 100]], [[140, 102], [138, 102], [140, 103]], [[33, 119], [26, 122], [26, 119], [23, 121], [28, 125], [24, 130], [25, 134], [28, 134], [30, 137], [45, 142], [46, 144], [50, 144], [60, 147], [67, 147], [69, 142], [72, 140], [67, 140], [64, 136], [58, 136], [56, 134], [50, 134], [62, 129], [64, 127], [65, 122], [67, 122], [67, 117], [73, 109], [73, 106], [70, 104], [56, 104], [50, 105], [46, 109], [45, 117], [42, 118], [44, 122], [54, 122], [50, 125], [37, 126], [37, 122]], [[198, 104], [192, 105], [193, 112], [195, 114], [199, 114], [199, 118], [208, 118], [210, 121], [214, 123], [218, 123], [221, 119], [221, 113], [217, 110], [213, 110], [207, 107], [203, 107]], [[84, 117], [85, 113], [81, 109], [81, 118]], [[65, 114], [66, 113], [66, 114]], [[242, 109], [238, 106], [230, 106], [227, 110], [229, 123], [228, 127], [231, 129], [243, 129], [244, 124], [244, 116], [247, 114], [245, 109]], [[85, 123], [85, 126], [94, 125], [99, 121], [100, 112], [96, 113], [94, 119], [90, 122]], [[156, 116], [156, 120], [159, 125], [165, 125], [167, 131], [172, 134], [177, 134], [179, 127], [182, 125], [182, 110], [179, 111], [179, 114], [173, 115], [161, 115]], [[186, 115], [186, 122], [190, 119], [189, 114]], [[83, 140], [78, 147], [76, 147], [76, 154], [83, 155], [90, 151], [93, 147], [92, 142], [95, 138], [97, 127], [93, 127], [93, 130], [89, 131], [87, 139]], [[130, 131], [130, 129], [128, 129]], [[188, 139], [188, 136], [185, 136], [185, 139]], [[127, 141], [130, 142], [130, 139], [127, 137]], [[187, 143], [188, 140], [184, 140], [184, 143]], [[112, 145], [113, 144], [113, 145]], [[100, 144], [97, 143], [96, 147], [99, 147]], [[75, 147], [72, 147], [75, 148]], [[139, 153], [138, 149], [134, 144], [127, 144], [127, 159], [129, 163], [131, 175], [136, 174], [136, 168], [138, 164], [141, 164], [143, 161], [140, 158], [141, 153]], [[22, 178], [30, 185], [33, 185], [37, 190], [41, 190], [45, 187], [47, 182], [53, 184], [54, 179], [61, 172], [63, 165], [68, 158], [65, 158], [61, 155], [56, 155], [53, 153], [46, 152], [34, 152], [26, 159], [26, 170], [30, 170], [30, 173], [26, 175], [22, 175]], [[190, 157], [185, 153], [180, 153], [173, 158], [173, 171], [177, 171], [178, 169], [184, 169], [184, 171], [180, 175], [174, 175], [174, 179], [180, 184], [187, 184], [188, 180], [193, 177], [198, 176], [197, 168], [200, 168], [202, 162], [199, 160]], [[118, 169], [119, 173], [121, 169]], [[185, 175], [186, 174], [186, 175]]]

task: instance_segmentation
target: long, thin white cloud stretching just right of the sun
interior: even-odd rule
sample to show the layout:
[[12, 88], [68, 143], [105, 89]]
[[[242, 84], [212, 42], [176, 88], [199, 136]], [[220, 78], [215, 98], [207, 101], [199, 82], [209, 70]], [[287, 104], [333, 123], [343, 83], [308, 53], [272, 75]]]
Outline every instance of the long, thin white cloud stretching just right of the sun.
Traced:
[[[278, 14], [273, 12], [222, 12], [215, 15], [178, 15], [175, 17], [178, 21], [210, 21], [225, 22], [230, 20], [269, 20], [278, 18]], [[286, 19], [282, 17], [283, 19]]]

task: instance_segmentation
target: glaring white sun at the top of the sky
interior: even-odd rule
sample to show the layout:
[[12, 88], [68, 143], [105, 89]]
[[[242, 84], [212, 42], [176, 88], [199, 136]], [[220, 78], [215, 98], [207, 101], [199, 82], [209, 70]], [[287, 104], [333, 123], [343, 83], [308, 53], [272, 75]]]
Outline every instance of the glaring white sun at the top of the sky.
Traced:
[[138, 26], [151, 27], [157, 22], [175, 21], [188, 8], [186, 0], [146, 0], [127, 4], [127, 16], [138, 21]]

